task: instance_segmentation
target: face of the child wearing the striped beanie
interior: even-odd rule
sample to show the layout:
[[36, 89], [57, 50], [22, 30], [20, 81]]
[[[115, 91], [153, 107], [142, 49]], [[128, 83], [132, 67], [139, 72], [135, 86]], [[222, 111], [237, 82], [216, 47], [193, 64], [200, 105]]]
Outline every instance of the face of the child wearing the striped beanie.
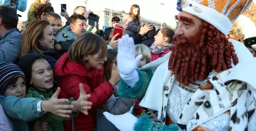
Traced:
[[24, 98], [26, 96], [26, 82], [23, 77], [19, 77], [15, 84], [11, 84], [3, 96], [17, 96]]

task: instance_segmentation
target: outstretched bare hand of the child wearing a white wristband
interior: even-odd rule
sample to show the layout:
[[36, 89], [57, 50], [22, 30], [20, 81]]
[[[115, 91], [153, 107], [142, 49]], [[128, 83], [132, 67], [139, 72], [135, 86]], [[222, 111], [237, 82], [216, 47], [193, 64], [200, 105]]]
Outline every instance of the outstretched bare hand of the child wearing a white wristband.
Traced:
[[51, 112], [55, 115], [69, 118], [70, 116], [67, 114], [72, 113], [72, 111], [67, 109], [73, 108], [73, 105], [61, 105], [61, 103], [69, 102], [69, 99], [58, 99], [60, 92], [61, 88], [58, 87], [57, 91], [52, 95], [50, 100], [42, 101], [41, 110], [43, 112]]

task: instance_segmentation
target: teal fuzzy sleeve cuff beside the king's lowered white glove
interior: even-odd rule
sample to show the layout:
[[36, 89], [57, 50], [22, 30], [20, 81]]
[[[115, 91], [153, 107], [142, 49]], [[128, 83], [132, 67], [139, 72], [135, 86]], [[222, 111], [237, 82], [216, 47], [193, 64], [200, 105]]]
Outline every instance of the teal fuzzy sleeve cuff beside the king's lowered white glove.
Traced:
[[135, 131], [178, 131], [178, 126], [171, 124], [167, 126], [165, 124], [150, 121], [149, 115], [140, 116], [137, 123], [134, 126]]

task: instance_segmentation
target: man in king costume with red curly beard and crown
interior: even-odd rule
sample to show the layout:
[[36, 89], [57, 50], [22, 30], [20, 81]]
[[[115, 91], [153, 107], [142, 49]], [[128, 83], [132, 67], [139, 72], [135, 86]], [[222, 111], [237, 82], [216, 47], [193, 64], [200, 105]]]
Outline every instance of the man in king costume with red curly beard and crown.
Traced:
[[256, 59], [226, 37], [252, 2], [178, 0], [172, 52], [142, 69], [133, 39], [119, 39], [120, 96], [158, 112], [158, 122], [131, 113], [106, 118], [121, 131], [255, 131]]

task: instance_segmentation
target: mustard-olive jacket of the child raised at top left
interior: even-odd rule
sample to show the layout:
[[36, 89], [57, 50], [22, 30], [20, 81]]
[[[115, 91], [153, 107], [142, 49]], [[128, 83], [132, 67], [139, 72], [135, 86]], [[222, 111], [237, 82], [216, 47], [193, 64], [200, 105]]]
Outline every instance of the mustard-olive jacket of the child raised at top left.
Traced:
[[[30, 5], [30, 8], [28, 10], [28, 20], [26, 22], [26, 28], [28, 27], [28, 24], [30, 24], [31, 22], [37, 20], [37, 18], [36, 18], [36, 10], [37, 10], [37, 8], [41, 4], [42, 3], [40, 2], [40, 0], [35, 0], [35, 2]], [[51, 3], [48, 3], [48, 5], [52, 6]]]

